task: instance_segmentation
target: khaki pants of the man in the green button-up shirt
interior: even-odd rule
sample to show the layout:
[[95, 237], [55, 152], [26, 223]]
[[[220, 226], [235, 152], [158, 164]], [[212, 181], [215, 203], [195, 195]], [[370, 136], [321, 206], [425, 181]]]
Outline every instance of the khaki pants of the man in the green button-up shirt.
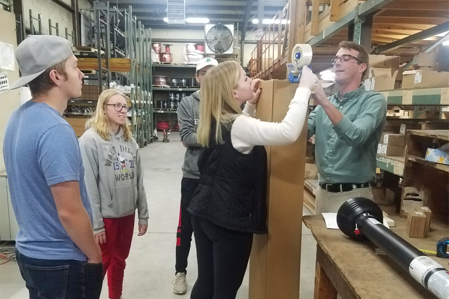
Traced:
[[347, 192], [327, 192], [318, 187], [315, 195], [315, 215], [321, 213], [337, 213], [340, 206], [353, 197], [373, 199], [371, 188], [359, 188]]

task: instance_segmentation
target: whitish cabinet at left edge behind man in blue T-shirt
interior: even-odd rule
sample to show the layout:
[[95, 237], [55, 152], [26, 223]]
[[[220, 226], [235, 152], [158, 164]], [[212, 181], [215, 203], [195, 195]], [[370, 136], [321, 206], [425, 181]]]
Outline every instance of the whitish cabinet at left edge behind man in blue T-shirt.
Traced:
[[18, 233], [18, 225], [12, 211], [6, 173], [0, 173], [0, 240], [14, 241]]

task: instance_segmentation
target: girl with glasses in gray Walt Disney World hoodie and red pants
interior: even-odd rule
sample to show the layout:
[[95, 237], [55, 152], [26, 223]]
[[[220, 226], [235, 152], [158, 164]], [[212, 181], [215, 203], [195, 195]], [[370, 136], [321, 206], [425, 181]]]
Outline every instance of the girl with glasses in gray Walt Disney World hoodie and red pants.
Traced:
[[139, 234], [148, 227], [139, 146], [131, 136], [125, 96], [103, 91], [97, 109], [79, 139], [87, 193], [92, 205], [95, 239], [100, 244], [103, 276], [108, 274], [109, 298], [122, 298], [128, 257], [138, 211]]

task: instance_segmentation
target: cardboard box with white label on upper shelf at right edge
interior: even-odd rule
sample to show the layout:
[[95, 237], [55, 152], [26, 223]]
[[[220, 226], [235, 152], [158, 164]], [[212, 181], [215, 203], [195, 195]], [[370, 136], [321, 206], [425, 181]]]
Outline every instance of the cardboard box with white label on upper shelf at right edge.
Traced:
[[426, 70], [404, 71], [402, 88], [439, 87], [449, 85], [449, 72]]

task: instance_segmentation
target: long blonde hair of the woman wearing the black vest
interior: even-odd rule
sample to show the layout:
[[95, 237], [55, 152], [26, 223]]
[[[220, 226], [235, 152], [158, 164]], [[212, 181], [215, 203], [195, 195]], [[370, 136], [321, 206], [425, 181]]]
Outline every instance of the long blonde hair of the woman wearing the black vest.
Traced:
[[211, 68], [201, 86], [200, 124], [198, 142], [209, 147], [212, 122], [216, 121], [215, 141], [223, 143], [222, 125], [229, 126], [242, 111], [233, 97], [240, 76], [240, 65], [236, 61], [225, 61]]

